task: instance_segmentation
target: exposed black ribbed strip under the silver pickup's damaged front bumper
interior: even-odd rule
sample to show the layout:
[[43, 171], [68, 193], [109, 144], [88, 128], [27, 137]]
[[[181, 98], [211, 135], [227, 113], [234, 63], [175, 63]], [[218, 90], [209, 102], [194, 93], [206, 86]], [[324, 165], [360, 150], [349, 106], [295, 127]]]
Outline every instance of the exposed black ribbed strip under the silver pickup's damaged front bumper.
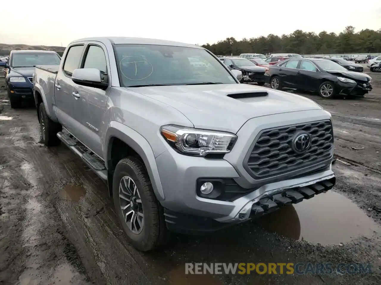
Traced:
[[335, 183], [336, 178], [333, 177], [306, 187], [291, 188], [282, 193], [262, 198], [251, 207], [250, 217], [256, 218], [271, 213], [282, 206], [297, 204], [304, 199], [310, 199], [317, 194], [330, 190]]

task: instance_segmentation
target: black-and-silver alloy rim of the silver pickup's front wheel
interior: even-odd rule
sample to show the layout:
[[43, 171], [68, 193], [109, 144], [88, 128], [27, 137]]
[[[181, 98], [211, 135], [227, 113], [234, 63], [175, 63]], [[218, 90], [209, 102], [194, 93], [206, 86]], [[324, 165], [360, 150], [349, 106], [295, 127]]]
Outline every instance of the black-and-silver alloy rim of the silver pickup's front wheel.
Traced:
[[119, 202], [124, 220], [134, 234], [144, 226], [143, 204], [138, 187], [130, 176], [123, 176], [119, 183]]

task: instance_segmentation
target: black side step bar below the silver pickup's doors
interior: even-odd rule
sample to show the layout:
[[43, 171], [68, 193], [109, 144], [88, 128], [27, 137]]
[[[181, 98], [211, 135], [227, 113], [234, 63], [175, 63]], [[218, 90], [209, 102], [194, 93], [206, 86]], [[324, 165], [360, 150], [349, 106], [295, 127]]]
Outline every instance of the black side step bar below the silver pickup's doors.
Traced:
[[57, 137], [66, 144], [75, 154], [82, 160], [104, 181], [107, 181], [107, 169], [99, 157], [97, 157], [90, 149], [78, 141], [67, 131], [60, 131]]

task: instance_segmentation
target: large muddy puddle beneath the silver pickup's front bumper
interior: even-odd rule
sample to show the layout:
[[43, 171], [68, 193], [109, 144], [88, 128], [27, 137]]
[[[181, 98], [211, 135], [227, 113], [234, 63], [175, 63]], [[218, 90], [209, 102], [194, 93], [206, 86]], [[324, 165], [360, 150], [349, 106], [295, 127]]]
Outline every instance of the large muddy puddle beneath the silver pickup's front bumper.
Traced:
[[333, 191], [285, 206], [255, 223], [267, 231], [291, 239], [325, 245], [349, 242], [380, 231], [378, 225], [356, 204]]

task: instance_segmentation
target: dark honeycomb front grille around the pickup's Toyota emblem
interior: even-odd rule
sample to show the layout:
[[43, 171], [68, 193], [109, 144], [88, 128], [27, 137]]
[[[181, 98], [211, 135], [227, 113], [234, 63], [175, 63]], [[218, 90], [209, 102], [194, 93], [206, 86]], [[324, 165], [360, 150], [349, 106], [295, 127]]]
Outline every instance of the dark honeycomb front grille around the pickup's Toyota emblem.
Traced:
[[[311, 146], [302, 153], [292, 148], [295, 135], [311, 136]], [[330, 120], [289, 125], [263, 130], [243, 165], [255, 179], [266, 179], [325, 161], [333, 153], [333, 129]]]

